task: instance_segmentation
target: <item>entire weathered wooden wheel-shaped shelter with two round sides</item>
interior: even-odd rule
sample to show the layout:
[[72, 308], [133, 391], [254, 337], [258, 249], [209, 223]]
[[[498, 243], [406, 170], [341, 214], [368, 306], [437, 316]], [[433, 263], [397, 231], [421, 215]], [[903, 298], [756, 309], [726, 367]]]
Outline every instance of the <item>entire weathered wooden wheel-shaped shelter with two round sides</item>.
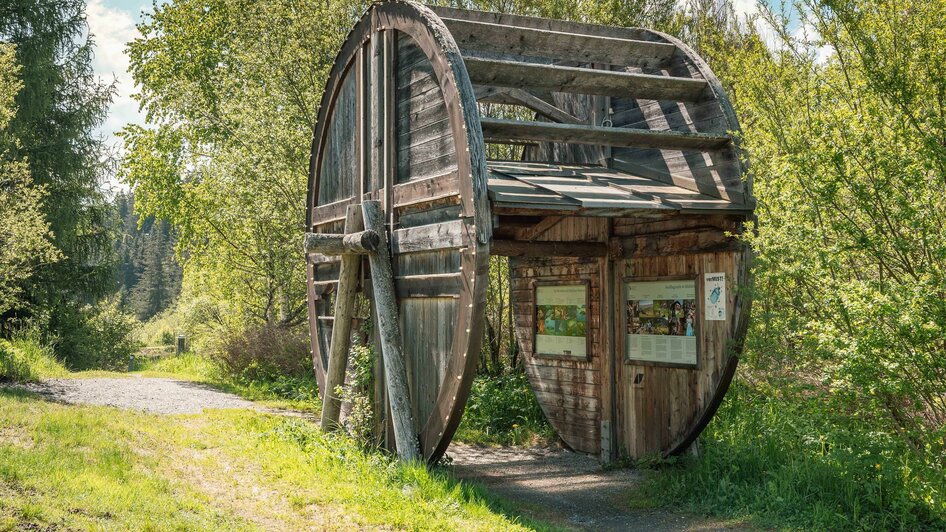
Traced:
[[[705, 62], [658, 32], [412, 2], [368, 9], [322, 99], [307, 225], [351, 233], [346, 210], [380, 202], [426, 459], [445, 451], [469, 393], [490, 254], [510, 257], [517, 342], [566, 443], [607, 460], [694, 441], [748, 319], [738, 234], [754, 200], [738, 130]], [[489, 145], [518, 151], [488, 160]], [[340, 262], [307, 256], [324, 393]], [[370, 299], [376, 279], [361, 271]]]

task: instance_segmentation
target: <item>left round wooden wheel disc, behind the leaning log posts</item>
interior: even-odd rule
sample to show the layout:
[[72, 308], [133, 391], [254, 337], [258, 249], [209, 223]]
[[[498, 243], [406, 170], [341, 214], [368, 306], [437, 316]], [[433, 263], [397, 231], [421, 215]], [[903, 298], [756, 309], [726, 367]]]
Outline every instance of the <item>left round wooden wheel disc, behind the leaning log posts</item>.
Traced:
[[[411, 407], [436, 459], [476, 368], [490, 217], [476, 100], [446, 27], [411, 3], [376, 4], [329, 75], [312, 145], [307, 225], [342, 232], [346, 208], [383, 205]], [[309, 315], [324, 392], [337, 257], [310, 255]]]

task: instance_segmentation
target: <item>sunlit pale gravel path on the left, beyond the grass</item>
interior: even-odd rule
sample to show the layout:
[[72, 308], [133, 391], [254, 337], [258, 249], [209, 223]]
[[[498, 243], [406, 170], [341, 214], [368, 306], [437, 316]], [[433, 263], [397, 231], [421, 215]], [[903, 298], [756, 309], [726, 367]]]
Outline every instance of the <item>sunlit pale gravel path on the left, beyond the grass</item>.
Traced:
[[262, 410], [233, 394], [174, 379], [50, 379], [24, 387], [53, 401], [116, 406], [157, 414], [199, 414], [208, 408]]

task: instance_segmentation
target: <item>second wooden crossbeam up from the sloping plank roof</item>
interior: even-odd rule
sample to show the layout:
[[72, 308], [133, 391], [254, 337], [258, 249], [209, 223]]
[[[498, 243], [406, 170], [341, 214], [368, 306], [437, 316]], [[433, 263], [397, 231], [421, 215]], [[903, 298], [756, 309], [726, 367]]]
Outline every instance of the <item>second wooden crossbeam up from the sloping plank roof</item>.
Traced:
[[464, 62], [473, 83], [500, 87], [693, 102], [701, 100], [709, 87], [706, 80], [693, 78], [474, 57], [464, 58]]

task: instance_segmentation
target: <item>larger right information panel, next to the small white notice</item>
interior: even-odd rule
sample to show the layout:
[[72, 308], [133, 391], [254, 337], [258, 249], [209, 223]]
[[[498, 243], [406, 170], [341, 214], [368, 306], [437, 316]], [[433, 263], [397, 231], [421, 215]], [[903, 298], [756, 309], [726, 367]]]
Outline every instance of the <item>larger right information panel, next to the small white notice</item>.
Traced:
[[625, 282], [625, 360], [695, 366], [696, 281]]

